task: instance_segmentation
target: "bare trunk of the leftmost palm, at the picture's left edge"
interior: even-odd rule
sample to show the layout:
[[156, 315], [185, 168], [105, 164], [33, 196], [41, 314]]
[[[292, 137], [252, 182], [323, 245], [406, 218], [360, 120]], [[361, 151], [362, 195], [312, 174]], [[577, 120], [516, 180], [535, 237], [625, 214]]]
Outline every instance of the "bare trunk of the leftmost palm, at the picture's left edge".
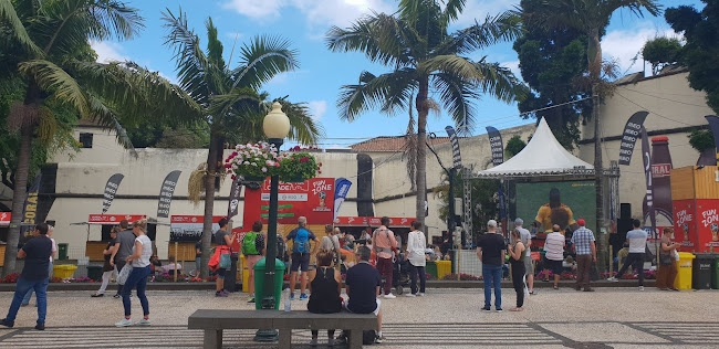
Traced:
[[18, 169], [15, 170], [15, 188], [12, 192], [12, 218], [8, 231], [6, 245], [4, 267], [2, 275], [7, 276], [15, 271], [18, 257], [18, 243], [20, 242], [20, 222], [28, 197], [28, 174], [30, 172], [30, 157], [32, 152], [32, 126], [23, 125], [20, 128], [20, 152], [18, 154]]

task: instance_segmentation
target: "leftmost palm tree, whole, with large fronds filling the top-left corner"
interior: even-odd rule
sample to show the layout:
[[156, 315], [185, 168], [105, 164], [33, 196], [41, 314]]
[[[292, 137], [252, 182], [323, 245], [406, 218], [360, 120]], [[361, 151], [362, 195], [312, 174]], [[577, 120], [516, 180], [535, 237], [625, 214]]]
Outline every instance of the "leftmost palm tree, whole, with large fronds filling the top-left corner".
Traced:
[[8, 125], [20, 133], [20, 147], [3, 274], [15, 266], [32, 141], [53, 138], [54, 128], [39, 127], [58, 121], [52, 105], [114, 128], [124, 145], [119, 116], [159, 118], [160, 107], [161, 115], [191, 109], [180, 98], [183, 91], [156, 73], [133, 63], [92, 62], [88, 40], [131, 39], [142, 20], [137, 10], [115, 0], [0, 0], [0, 67], [24, 84], [8, 116]]

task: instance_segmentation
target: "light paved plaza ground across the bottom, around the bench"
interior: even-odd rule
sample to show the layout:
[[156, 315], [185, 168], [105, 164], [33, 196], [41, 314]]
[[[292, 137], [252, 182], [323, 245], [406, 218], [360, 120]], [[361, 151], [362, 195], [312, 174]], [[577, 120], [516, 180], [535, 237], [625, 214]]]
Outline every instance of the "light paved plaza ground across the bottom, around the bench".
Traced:
[[[199, 348], [202, 332], [187, 329], [196, 309], [251, 309], [246, 294], [216, 298], [205, 290], [150, 290], [152, 327], [115, 328], [121, 299], [88, 292], [52, 292], [48, 329], [32, 329], [34, 304], [21, 308], [15, 327], [0, 329], [3, 348]], [[680, 293], [597, 288], [594, 293], [541, 289], [522, 313], [482, 313], [481, 289], [428, 289], [424, 298], [383, 302], [387, 340], [373, 348], [719, 348], [715, 290]], [[12, 293], [0, 293], [7, 311]], [[134, 320], [142, 314], [133, 298]], [[504, 289], [503, 308], [514, 295]], [[306, 309], [294, 300], [293, 309]], [[226, 348], [277, 348], [252, 341], [252, 330], [225, 331]], [[325, 336], [320, 332], [320, 339]], [[293, 331], [294, 348], [311, 348], [310, 332]], [[319, 348], [322, 348], [320, 346]]]

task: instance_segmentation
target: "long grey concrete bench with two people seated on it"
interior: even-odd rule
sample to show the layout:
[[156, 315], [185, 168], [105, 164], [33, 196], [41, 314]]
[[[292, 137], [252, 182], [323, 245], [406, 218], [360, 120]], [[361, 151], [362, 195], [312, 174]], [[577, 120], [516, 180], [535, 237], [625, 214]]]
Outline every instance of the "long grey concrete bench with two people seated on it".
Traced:
[[348, 331], [350, 348], [358, 349], [362, 348], [362, 331], [377, 329], [377, 317], [346, 311], [199, 309], [188, 318], [187, 328], [205, 330], [205, 349], [222, 348], [223, 329], [277, 329], [280, 331], [280, 349], [290, 348], [293, 329], [344, 329]]

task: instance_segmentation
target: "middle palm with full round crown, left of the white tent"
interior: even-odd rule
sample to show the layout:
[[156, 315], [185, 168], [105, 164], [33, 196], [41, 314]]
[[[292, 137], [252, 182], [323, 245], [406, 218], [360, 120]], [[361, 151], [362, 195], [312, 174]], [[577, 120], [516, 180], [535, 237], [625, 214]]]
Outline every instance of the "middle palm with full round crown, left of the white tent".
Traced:
[[[355, 85], [343, 86], [337, 102], [340, 117], [353, 121], [369, 108], [379, 107], [393, 115], [402, 109], [417, 110], [416, 181], [417, 220], [425, 221], [426, 136], [430, 109], [444, 107], [460, 133], [475, 124], [473, 101], [482, 93], [512, 102], [523, 93], [510, 70], [482, 57], [466, 55], [520, 34], [519, 20], [510, 12], [483, 23], [449, 33], [449, 25], [465, 8], [465, 0], [402, 0], [394, 14], [373, 13], [357, 20], [352, 28], [332, 28], [327, 46], [334, 52], [364, 52], [372, 61], [393, 71], [374, 75], [363, 72]], [[439, 102], [430, 94], [437, 93]], [[416, 95], [416, 97], [414, 97]], [[414, 97], [414, 101], [413, 101]], [[410, 112], [411, 113], [411, 112]], [[410, 114], [411, 115], [411, 114]], [[411, 125], [408, 128], [411, 131]]]

